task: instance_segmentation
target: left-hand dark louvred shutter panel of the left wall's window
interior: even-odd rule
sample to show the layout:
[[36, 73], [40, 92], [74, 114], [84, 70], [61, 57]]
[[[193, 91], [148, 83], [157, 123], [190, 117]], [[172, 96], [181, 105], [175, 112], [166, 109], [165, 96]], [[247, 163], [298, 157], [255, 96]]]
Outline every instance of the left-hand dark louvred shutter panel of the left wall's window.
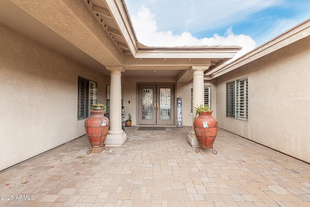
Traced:
[[78, 78], [78, 119], [84, 119], [88, 117], [88, 88], [88, 80]]

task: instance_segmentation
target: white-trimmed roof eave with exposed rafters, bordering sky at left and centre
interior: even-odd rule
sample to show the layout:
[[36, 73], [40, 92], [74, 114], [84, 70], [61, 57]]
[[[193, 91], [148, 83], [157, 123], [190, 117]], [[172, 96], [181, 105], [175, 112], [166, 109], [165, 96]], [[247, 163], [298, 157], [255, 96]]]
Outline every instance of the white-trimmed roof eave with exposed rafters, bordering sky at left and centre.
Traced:
[[[147, 47], [138, 42], [124, 0], [84, 0], [100, 25], [123, 53], [125, 70], [187, 70], [192, 65], [219, 65], [234, 57], [239, 46]], [[100, 12], [100, 11], [106, 11]], [[107, 14], [107, 11], [109, 13]], [[114, 31], [111, 33], [109, 31]], [[116, 35], [121, 34], [121, 35]], [[152, 60], [153, 59], [153, 60]], [[200, 60], [199, 60], [200, 59]], [[167, 74], [173, 74], [167, 72]], [[125, 75], [125, 73], [124, 73]], [[165, 74], [163, 74], [165, 75]]]

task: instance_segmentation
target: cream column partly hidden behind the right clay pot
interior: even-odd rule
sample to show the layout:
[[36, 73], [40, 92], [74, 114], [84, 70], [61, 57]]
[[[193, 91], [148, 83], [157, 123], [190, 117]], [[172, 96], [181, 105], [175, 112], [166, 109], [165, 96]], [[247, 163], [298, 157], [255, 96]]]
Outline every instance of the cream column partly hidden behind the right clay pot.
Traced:
[[[193, 69], [193, 122], [196, 115], [194, 107], [204, 104], [204, 81], [203, 81], [203, 72], [209, 68], [209, 65], [203, 66], [192, 66]], [[187, 141], [192, 146], [199, 146], [199, 142], [195, 135], [194, 126], [187, 136]]]

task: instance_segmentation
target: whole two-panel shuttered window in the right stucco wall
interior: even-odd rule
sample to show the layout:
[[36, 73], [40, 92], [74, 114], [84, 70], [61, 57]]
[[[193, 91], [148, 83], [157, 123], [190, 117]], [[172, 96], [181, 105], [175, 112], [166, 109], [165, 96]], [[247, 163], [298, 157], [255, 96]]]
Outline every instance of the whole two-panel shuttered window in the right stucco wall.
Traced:
[[248, 78], [226, 83], [226, 116], [248, 120]]

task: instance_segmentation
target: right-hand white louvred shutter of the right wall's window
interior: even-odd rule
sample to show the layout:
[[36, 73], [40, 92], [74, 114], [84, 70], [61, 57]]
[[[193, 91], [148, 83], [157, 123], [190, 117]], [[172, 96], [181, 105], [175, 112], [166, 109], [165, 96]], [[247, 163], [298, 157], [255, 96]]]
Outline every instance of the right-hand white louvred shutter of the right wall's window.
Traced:
[[248, 120], [248, 79], [237, 80], [236, 118]]

